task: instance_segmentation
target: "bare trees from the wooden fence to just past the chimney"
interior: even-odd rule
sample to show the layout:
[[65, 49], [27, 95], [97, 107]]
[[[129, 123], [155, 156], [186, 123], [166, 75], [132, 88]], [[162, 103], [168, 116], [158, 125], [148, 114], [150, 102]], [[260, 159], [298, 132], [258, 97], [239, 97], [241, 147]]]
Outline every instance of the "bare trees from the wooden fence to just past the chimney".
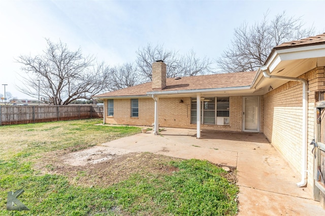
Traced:
[[[70, 51], [67, 44], [54, 44], [46, 39], [47, 47], [37, 56], [19, 56], [24, 84], [20, 92], [53, 105], [68, 105], [80, 99], [90, 100], [96, 94], [132, 87], [151, 80], [151, 65], [156, 60], [167, 64], [167, 76], [194, 76], [211, 72], [212, 62], [196, 57], [193, 51], [185, 56], [150, 44], [137, 51], [135, 63], [110, 67], [91, 56], [84, 57], [81, 49]], [[40, 92], [39, 92], [40, 91]]]

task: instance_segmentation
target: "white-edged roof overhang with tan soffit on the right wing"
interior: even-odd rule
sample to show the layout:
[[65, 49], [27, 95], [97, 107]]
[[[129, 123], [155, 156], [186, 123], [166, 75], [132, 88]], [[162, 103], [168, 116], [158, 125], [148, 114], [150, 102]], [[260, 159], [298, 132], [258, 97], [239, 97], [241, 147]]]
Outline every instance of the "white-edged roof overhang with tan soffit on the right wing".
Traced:
[[274, 49], [265, 65], [257, 70], [251, 88], [264, 95], [288, 82], [265, 78], [266, 69], [272, 75], [296, 78], [319, 66], [325, 66], [325, 45]]

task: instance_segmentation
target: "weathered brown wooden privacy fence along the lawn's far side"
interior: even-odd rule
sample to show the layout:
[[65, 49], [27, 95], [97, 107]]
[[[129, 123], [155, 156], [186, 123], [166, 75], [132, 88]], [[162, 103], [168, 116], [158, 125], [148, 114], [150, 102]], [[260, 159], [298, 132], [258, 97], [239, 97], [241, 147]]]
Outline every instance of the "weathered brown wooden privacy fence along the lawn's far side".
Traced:
[[0, 125], [103, 117], [103, 106], [0, 106]]

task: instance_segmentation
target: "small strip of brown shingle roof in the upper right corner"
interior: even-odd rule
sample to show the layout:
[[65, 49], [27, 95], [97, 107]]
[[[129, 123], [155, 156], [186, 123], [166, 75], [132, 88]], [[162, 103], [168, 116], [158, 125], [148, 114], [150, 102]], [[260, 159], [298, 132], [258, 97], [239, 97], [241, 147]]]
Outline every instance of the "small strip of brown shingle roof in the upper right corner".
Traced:
[[303, 47], [303, 46], [318, 45], [318, 44], [325, 44], [325, 33], [303, 38], [300, 40], [292, 40], [289, 42], [284, 42], [283, 44], [280, 44], [274, 49], [278, 50], [278, 49], [285, 49], [290, 47]]

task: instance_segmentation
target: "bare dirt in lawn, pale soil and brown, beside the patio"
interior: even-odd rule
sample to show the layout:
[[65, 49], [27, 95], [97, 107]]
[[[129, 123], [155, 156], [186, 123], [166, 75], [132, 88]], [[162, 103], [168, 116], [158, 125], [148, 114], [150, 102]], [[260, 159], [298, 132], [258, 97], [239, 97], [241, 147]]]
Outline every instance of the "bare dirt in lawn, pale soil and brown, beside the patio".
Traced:
[[[35, 164], [42, 174], [67, 176], [73, 185], [84, 187], [107, 187], [137, 174], [159, 176], [172, 174], [178, 168], [170, 161], [180, 158], [153, 153], [127, 152], [120, 149], [95, 146], [78, 152], [55, 151]], [[41, 162], [42, 161], [42, 162]], [[236, 170], [222, 174], [229, 182], [236, 183]]]

